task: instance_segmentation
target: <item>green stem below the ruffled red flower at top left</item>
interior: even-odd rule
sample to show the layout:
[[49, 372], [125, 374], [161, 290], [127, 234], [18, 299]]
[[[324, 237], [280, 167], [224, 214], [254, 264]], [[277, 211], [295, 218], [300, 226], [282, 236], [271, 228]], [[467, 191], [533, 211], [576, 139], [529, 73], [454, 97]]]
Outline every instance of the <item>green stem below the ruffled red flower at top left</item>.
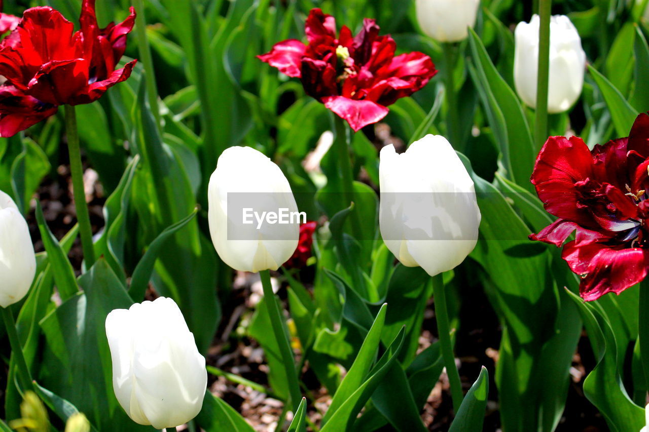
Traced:
[[77, 114], [75, 107], [66, 105], [66, 135], [67, 151], [70, 156], [70, 173], [72, 175], [72, 195], [75, 200], [77, 221], [79, 221], [79, 235], [83, 256], [86, 259], [86, 269], [95, 263], [95, 248], [92, 244], [92, 226], [86, 204], [86, 191], [83, 186], [83, 167], [81, 165], [81, 150], [79, 149], [79, 133], [77, 132]]

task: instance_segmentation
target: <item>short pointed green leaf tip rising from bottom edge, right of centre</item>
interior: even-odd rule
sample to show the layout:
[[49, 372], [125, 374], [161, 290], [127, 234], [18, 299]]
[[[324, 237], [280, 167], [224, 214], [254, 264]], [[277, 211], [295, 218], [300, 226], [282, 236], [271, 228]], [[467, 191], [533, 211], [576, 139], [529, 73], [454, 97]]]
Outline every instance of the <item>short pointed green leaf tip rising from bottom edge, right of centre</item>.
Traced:
[[481, 432], [489, 396], [489, 372], [482, 366], [480, 376], [473, 383], [459, 407], [448, 432]]

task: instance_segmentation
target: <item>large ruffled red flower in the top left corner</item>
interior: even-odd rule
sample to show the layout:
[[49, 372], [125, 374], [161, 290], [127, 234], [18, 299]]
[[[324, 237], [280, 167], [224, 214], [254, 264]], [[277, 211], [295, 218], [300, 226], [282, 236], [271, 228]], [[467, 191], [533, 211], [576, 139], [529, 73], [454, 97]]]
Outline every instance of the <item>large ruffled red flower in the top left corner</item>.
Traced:
[[[0, 27], [10, 23], [10, 29], [15, 21], [5, 17]], [[0, 86], [0, 136], [38, 123], [59, 105], [96, 101], [129, 78], [136, 60], [121, 69], [116, 65], [135, 22], [134, 9], [123, 23], [100, 29], [95, 0], [84, 0], [79, 21], [74, 32], [73, 23], [49, 6], [27, 9], [0, 42], [0, 75], [6, 80]]]

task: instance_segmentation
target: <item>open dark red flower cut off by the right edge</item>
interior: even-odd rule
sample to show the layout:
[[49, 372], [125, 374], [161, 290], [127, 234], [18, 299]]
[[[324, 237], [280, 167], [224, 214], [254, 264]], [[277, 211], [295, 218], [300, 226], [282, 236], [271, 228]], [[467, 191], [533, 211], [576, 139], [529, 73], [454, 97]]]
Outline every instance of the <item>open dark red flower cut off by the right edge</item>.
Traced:
[[628, 138], [596, 145], [550, 137], [532, 183], [545, 209], [559, 219], [530, 239], [563, 246], [563, 259], [582, 277], [584, 300], [621, 293], [649, 269], [649, 115]]

